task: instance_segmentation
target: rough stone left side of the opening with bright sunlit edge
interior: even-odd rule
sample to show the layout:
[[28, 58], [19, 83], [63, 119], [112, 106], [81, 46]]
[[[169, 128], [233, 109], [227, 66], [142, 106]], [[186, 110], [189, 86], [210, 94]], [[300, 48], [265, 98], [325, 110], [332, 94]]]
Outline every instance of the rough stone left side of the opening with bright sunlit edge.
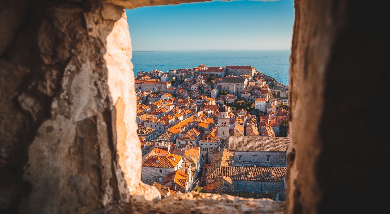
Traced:
[[[35, 3], [1, 35], [0, 210], [85, 213], [128, 202], [144, 184], [124, 10]], [[2, 6], [2, 17], [18, 8]]]

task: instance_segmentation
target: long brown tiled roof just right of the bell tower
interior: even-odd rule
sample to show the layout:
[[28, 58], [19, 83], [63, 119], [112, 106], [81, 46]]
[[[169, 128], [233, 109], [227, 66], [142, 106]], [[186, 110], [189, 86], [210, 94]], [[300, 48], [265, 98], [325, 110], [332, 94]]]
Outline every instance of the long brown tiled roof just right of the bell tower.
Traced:
[[287, 152], [289, 137], [229, 136], [229, 151]]

